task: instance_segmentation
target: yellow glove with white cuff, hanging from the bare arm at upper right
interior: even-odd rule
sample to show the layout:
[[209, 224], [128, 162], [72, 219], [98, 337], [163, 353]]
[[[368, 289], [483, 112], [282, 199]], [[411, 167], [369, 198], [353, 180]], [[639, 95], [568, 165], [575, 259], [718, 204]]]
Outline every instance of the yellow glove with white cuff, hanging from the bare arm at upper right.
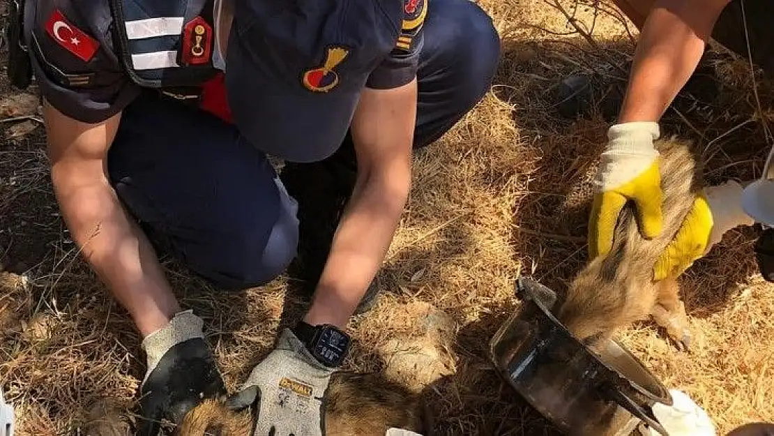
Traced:
[[588, 228], [591, 259], [610, 251], [618, 215], [629, 200], [634, 201], [642, 236], [652, 239], [661, 232], [659, 152], [653, 146], [659, 135], [656, 122], [626, 122], [608, 129], [608, 146], [594, 180]]

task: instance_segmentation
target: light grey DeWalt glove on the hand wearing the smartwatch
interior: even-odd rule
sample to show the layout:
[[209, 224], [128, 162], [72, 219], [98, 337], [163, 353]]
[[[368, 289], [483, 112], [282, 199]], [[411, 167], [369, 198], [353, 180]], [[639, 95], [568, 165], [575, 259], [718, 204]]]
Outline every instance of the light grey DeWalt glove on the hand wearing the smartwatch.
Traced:
[[314, 359], [285, 328], [274, 351], [226, 404], [240, 410], [258, 401], [255, 436], [323, 436], [325, 391], [335, 371]]

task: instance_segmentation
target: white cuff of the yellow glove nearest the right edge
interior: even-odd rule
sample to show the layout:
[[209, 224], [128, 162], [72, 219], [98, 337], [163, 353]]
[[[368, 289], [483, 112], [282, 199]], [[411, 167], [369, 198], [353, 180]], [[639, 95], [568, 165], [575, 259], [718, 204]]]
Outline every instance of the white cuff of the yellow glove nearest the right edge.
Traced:
[[[738, 225], [753, 225], [755, 220], [741, 207], [742, 187], [729, 180], [724, 184], [704, 188], [707, 203], [712, 212], [712, 232], [707, 243], [707, 251], [720, 242], [725, 232]], [[706, 252], [705, 252], [706, 253]]]

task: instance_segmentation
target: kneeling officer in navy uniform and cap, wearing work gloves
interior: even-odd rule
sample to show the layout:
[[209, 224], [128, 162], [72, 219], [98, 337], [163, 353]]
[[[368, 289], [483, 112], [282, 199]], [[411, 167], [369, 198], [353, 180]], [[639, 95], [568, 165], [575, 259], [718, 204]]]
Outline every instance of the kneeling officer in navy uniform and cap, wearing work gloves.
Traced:
[[164, 253], [222, 290], [306, 281], [303, 321], [230, 403], [262, 398], [256, 434], [320, 434], [412, 150], [490, 87], [491, 19], [468, 0], [39, 0], [23, 25], [63, 218], [143, 338], [139, 433], [225, 393]]

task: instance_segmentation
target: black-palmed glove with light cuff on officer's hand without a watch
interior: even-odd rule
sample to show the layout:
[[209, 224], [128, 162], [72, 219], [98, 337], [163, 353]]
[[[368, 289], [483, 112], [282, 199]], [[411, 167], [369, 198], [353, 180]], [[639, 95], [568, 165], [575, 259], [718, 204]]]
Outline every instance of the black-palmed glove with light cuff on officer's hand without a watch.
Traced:
[[226, 395], [202, 324], [193, 311], [183, 311], [143, 340], [148, 370], [140, 387], [138, 436], [158, 436], [163, 420], [180, 424], [202, 400]]

